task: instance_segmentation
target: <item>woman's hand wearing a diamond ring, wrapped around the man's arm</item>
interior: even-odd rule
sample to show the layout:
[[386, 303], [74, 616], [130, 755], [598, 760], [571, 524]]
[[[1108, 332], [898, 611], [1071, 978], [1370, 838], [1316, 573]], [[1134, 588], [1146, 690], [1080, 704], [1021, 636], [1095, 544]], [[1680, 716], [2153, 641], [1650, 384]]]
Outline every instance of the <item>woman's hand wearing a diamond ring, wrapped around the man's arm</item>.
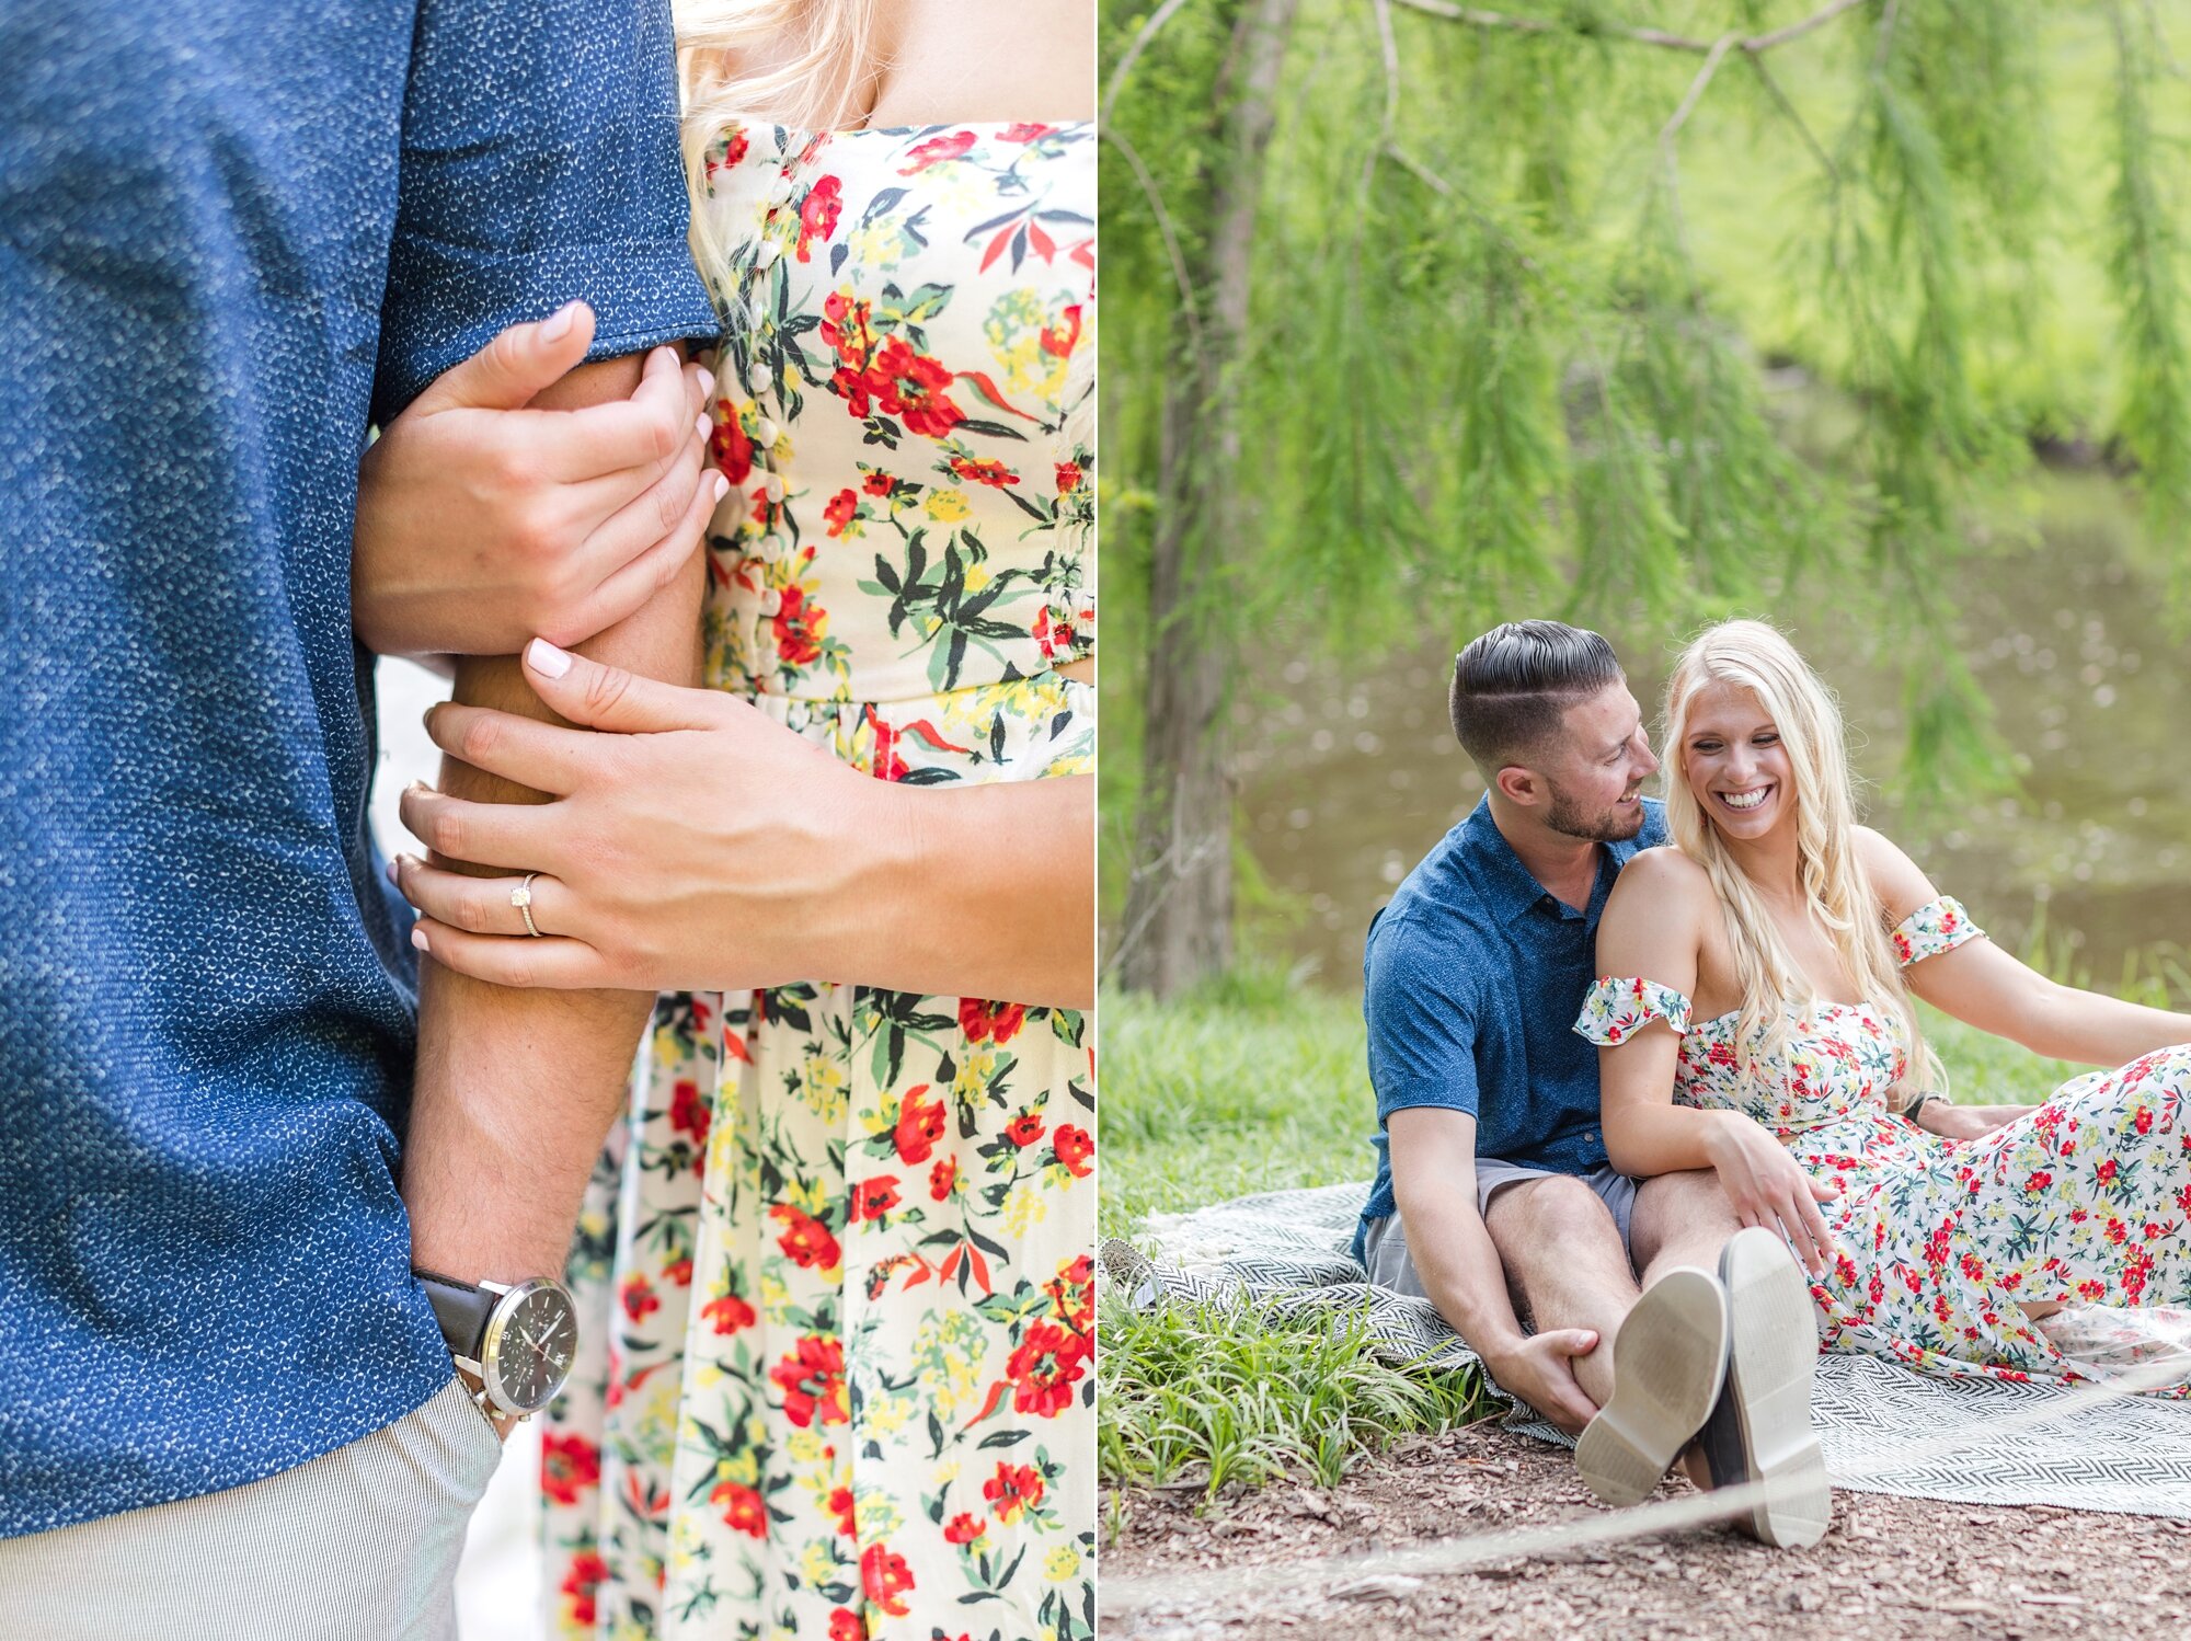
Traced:
[[[883, 896], [905, 896], [905, 793], [721, 690], [655, 684], [550, 644], [526, 679], [565, 730], [443, 703], [427, 730], [473, 769], [552, 793], [471, 804], [425, 787], [403, 824], [436, 854], [537, 872], [532, 925], [511, 892], [399, 859], [412, 942], [497, 986], [738, 990], [852, 979]], [[605, 730], [609, 734], [596, 734]]]

